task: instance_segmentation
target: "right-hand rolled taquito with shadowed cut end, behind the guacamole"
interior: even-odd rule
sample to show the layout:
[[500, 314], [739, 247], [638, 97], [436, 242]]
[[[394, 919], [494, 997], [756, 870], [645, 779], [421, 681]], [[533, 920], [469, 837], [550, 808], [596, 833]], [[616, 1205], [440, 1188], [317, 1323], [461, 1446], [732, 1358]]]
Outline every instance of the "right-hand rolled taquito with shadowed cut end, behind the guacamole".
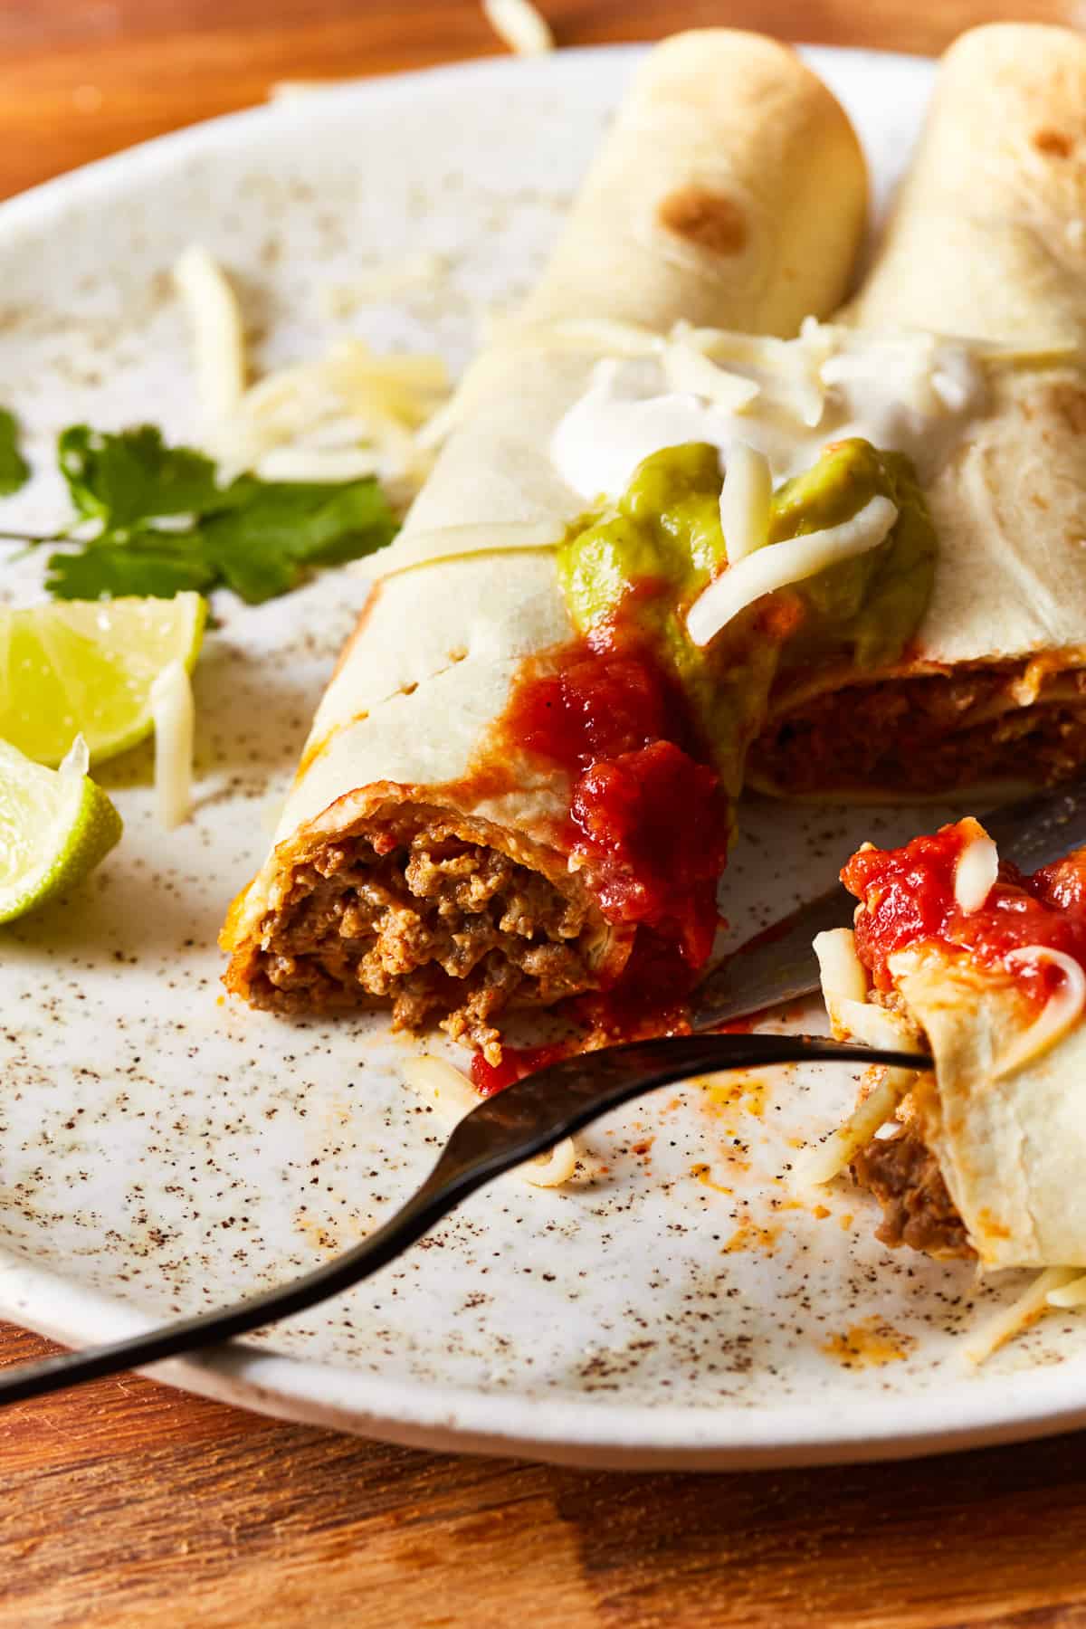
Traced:
[[782, 684], [749, 762], [765, 790], [926, 795], [1049, 780], [1086, 757], [1083, 108], [1086, 39], [1066, 29], [974, 29], [943, 62], [845, 316], [1037, 358], [993, 375], [980, 417], [920, 468], [939, 554], [905, 656]]

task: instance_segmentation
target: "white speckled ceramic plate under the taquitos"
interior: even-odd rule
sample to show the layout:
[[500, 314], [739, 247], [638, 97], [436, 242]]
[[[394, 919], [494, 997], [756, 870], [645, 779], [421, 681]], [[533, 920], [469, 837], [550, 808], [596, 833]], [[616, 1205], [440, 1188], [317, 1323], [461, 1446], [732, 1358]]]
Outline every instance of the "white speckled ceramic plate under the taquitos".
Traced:
[[[436, 344], [459, 367], [480, 308], [529, 283], [637, 55], [334, 90], [7, 204], [0, 394], [36, 456], [80, 419], [194, 435], [166, 280], [194, 239], [241, 279], [262, 365], [327, 342], [321, 283], [446, 254], [440, 290], [344, 326]], [[884, 192], [930, 67], [811, 55]], [[44, 526], [57, 503], [42, 477], [8, 515]], [[33, 591], [36, 570], [5, 565], [5, 593]], [[433, 1158], [440, 1127], [397, 1078], [405, 1043], [373, 1020], [233, 1010], [217, 982], [215, 932], [264, 854], [363, 590], [337, 575], [262, 609], [223, 604], [197, 674], [194, 821], [161, 836], [148, 753], [119, 761], [103, 779], [120, 849], [78, 896], [0, 935], [0, 1311], [23, 1324], [85, 1344], [282, 1280], [361, 1238]], [[752, 803], [728, 875], [736, 932], [825, 886], [860, 836], [915, 824]], [[969, 1267], [882, 1253], [847, 1186], [825, 1214], [790, 1191], [796, 1142], [855, 1085], [782, 1070], [661, 1093], [586, 1135], [570, 1191], [506, 1178], [371, 1284], [158, 1373], [401, 1442], [591, 1464], [873, 1458], [1079, 1424], [1083, 1323], [1053, 1315], [967, 1373], [959, 1331], [1018, 1284], [975, 1295]]]

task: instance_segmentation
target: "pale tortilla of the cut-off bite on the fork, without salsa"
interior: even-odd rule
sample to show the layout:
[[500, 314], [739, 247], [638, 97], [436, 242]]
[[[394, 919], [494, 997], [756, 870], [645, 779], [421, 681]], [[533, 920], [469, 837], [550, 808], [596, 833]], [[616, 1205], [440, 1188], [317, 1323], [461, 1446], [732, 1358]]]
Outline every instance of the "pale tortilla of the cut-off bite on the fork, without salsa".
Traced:
[[1086, 1025], [993, 1078], [1036, 1018], [1013, 979], [938, 946], [899, 951], [891, 973], [936, 1064], [920, 1131], [982, 1264], [1086, 1266]]

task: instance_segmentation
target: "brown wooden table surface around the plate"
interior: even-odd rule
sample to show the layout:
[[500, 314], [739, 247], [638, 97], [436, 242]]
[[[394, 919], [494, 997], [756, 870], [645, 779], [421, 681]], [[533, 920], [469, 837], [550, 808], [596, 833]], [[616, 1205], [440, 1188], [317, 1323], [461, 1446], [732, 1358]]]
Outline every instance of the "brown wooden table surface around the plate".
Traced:
[[[560, 44], [733, 23], [936, 52], [1079, 0], [544, 0]], [[0, 194], [278, 78], [495, 50], [472, 0], [0, 0]], [[0, 1326], [0, 1360], [47, 1350]], [[1086, 1624], [1086, 1434], [912, 1464], [614, 1476], [451, 1460], [145, 1380], [0, 1416], [0, 1626]]]

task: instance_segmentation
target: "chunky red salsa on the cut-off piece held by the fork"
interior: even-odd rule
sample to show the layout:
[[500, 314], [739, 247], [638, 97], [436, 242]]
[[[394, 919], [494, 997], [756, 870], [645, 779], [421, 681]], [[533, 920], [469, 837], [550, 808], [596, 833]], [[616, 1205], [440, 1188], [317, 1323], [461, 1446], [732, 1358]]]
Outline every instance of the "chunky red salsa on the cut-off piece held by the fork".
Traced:
[[[959, 950], [985, 968], [1000, 968], [1009, 951], [1044, 945], [1086, 966], [1086, 849], [1026, 876], [1008, 862], [979, 911], [954, 899], [954, 870], [972, 821], [943, 826], [902, 849], [861, 849], [840, 873], [865, 909], [856, 919], [856, 951], [881, 990], [892, 989], [887, 961], [910, 945]], [[1016, 981], [1044, 1000], [1058, 982], [1050, 964], [1013, 964]]]

